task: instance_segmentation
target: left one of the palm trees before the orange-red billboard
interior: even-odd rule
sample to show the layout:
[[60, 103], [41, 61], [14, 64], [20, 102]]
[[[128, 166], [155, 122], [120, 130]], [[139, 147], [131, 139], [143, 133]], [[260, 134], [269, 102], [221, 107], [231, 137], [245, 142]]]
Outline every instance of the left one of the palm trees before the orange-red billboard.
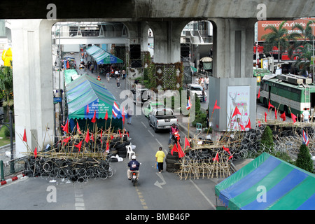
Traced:
[[281, 52], [286, 49], [288, 45], [288, 29], [284, 28], [283, 25], [286, 21], [281, 22], [279, 29], [272, 25], [265, 27], [266, 29], [271, 30], [269, 34], [262, 35], [262, 40], [265, 39], [264, 48], [266, 51], [271, 51], [272, 47], [278, 48], [278, 62], [280, 60]]

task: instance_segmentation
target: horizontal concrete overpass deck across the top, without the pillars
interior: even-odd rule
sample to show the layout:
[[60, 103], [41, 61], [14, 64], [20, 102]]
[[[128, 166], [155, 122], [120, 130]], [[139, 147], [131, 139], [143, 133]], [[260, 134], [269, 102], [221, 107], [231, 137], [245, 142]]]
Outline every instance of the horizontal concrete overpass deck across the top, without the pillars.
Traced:
[[[1, 19], [44, 19], [50, 10], [50, 0], [1, 1]], [[292, 19], [312, 17], [315, 12], [314, 0], [116, 0], [87, 1], [55, 0], [57, 18], [117, 18], [130, 21], [148, 20], [207, 20], [208, 18], [257, 18], [264, 4], [267, 19]], [[48, 9], [47, 9], [48, 8]]]

